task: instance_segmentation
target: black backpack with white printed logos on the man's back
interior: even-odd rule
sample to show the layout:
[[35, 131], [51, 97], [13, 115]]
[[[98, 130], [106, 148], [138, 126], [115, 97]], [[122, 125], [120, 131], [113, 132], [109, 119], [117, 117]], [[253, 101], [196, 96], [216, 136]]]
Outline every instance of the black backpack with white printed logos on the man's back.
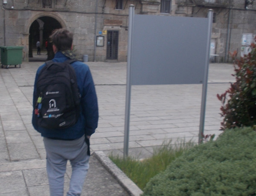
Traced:
[[76, 72], [70, 63], [47, 61], [36, 83], [34, 103], [38, 126], [62, 129], [76, 124], [79, 118], [80, 94]]

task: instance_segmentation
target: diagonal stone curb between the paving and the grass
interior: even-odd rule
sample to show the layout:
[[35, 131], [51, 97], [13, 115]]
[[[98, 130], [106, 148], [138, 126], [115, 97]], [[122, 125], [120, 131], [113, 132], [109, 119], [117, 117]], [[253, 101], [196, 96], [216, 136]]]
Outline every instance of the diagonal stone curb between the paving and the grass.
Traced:
[[94, 151], [96, 159], [102, 164], [103, 167], [117, 180], [117, 182], [131, 195], [140, 196], [143, 191], [137, 187], [134, 182], [129, 179], [125, 173], [114, 164], [103, 151]]

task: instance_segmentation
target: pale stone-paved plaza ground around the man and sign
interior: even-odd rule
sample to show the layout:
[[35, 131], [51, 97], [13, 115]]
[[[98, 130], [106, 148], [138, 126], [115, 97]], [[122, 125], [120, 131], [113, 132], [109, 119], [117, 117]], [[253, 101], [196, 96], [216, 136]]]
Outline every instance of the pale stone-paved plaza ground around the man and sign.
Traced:
[[[43, 140], [31, 124], [35, 72], [42, 63], [23, 62], [21, 68], [0, 69], [1, 196], [49, 195]], [[132, 195], [100, 161], [110, 153], [123, 155], [126, 63], [87, 64], [98, 96], [99, 126], [90, 139], [94, 153], [83, 196]], [[216, 95], [225, 92], [230, 82], [235, 81], [233, 72], [232, 64], [209, 66], [205, 135], [221, 133], [221, 102]], [[184, 140], [198, 142], [201, 94], [201, 84], [132, 86], [129, 155], [148, 158], [155, 147], [170, 140], [173, 144]], [[69, 165], [66, 184], [70, 173]], [[129, 179], [125, 180], [130, 183]]]

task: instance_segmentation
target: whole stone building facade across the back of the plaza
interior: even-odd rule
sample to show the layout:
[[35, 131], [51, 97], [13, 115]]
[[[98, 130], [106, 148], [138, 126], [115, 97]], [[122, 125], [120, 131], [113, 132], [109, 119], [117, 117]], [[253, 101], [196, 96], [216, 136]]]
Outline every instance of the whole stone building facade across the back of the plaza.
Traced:
[[32, 57], [38, 40], [44, 49], [52, 30], [61, 27], [74, 33], [78, 59], [88, 55], [89, 61], [126, 61], [131, 4], [135, 14], [166, 16], [206, 17], [213, 9], [211, 53], [222, 62], [230, 61], [230, 51], [243, 50], [244, 34], [256, 34], [253, 0], [1, 1], [0, 46], [23, 46], [23, 61]]

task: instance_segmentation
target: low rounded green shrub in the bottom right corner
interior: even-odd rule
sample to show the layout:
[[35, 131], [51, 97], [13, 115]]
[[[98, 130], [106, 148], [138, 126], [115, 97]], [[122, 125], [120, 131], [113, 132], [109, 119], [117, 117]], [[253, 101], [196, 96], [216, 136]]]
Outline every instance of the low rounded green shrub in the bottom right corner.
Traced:
[[148, 182], [142, 196], [255, 196], [256, 132], [226, 130], [183, 153]]

